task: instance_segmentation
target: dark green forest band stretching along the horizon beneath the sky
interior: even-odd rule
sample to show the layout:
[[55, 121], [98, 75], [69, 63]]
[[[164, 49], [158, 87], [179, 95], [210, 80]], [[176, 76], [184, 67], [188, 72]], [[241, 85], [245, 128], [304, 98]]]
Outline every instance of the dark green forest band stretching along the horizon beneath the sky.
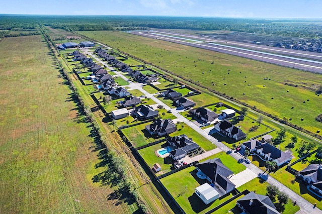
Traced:
[[30, 31], [37, 31], [39, 24], [51, 26], [52, 28], [61, 28], [67, 31], [129, 31], [156, 28], [202, 31], [225, 30], [306, 38], [322, 37], [322, 20], [312, 19], [36, 15], [0, 15], [0, 17], [0, 37], [13, 36], [10, 34], [10, 31], [28, 31], [26, 35], [32, 35], [36, 32]]

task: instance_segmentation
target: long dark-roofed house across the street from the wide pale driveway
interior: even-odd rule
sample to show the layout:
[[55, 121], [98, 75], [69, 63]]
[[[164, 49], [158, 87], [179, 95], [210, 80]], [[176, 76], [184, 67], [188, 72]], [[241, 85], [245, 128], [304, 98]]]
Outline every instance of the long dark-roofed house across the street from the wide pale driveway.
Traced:
[[288, 151], [283, 152], [269, 143], [262, 143], [256, 139], [241, 144], [241, 147], [255, 153], [263, 160], [275, 161], [278, 167], [290, 162], [293, 158]]

